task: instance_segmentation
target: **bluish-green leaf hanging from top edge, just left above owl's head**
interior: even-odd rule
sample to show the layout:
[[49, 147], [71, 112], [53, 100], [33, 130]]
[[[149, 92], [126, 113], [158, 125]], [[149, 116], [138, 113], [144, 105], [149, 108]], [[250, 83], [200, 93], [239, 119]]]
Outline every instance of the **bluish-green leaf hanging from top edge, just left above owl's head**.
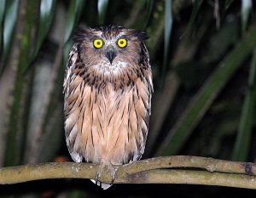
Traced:
[[67, 13], [67, 24], [65, 28], [64, 42], [66, 43], [71, 36], [74, 26], [77, 24], [82, 10], [84, 8], [84, 0], [72, 0], [69, 3], [68, 13]]

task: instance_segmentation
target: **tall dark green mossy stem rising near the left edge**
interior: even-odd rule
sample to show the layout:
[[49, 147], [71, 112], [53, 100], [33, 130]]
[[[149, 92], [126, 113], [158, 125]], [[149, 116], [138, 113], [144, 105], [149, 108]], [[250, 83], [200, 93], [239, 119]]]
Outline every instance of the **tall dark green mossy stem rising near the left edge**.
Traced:
[[[8, 120], [8, 137], [5, 151], [5, 166], [17, 165], [21, 162], [23, 156], [22, 149], [25, 141], [24, 126], [26, 122], [22, 122], [25, 115], [25, 85], [26, 77], [22, 72], [28, 65], [30, 58], [30, 49], [35, 45], [36, 32], [38, 21], [34, 14], [39, 13], [40, 1], [31, 1], [30, 3], [19, 3], [18, 16], [22, 16], [22, 20], [16, 20], [20, 28], [15, 31], [16, 48], [15, 53], [9, 58], [9, 66], [15, 71], [13, 75], [13, 101], [9, 106]], [[26, 80], [25, 80], [26, 79]]]

